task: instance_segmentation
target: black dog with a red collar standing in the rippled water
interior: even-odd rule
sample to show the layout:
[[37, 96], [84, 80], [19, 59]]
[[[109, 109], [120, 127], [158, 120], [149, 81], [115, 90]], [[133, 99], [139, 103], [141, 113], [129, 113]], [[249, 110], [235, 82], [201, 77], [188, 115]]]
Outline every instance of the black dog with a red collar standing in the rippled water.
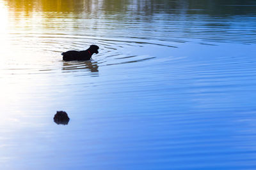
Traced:
[[63, 60], [70, 61], [70, 60], [90, 60], [92, 58], [93, 53], [99, 53], [99, 46], [91, 45], [90, 48], [84, 51], [67, 51], [61, 53], [63, 55]]

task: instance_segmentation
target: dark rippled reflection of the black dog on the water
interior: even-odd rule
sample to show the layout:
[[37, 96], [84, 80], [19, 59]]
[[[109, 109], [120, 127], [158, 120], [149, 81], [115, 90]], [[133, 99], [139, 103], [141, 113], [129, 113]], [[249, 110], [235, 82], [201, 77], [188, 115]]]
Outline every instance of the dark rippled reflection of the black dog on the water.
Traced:
[[99, 72], [97, 62], [90, 60], [84, 62], [63, 62], [63, 70], [88, 69], [92, 73]]

